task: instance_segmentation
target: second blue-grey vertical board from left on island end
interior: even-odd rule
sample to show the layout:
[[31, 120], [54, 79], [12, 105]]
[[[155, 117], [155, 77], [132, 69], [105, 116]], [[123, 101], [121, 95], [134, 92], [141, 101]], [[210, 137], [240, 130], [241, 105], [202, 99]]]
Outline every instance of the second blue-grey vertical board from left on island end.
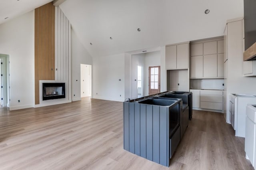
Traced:
[[129, 150], [134, 154], [134, 103], [129, 103]]

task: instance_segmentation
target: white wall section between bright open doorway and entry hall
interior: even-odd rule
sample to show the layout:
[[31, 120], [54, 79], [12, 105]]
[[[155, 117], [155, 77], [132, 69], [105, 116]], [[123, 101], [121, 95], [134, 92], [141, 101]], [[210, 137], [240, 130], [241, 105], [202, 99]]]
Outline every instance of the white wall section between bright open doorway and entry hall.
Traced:
[[124, 101], [124, 61], [124, 53], [93, 57], [92, 98]]

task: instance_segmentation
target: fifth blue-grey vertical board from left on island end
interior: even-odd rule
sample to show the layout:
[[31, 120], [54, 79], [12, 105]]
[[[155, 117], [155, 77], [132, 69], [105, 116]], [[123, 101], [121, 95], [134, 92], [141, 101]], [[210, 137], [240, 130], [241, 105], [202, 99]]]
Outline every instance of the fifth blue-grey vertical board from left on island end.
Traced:
[[146, 158], [153, 160], [153, 106], [146, 106]]

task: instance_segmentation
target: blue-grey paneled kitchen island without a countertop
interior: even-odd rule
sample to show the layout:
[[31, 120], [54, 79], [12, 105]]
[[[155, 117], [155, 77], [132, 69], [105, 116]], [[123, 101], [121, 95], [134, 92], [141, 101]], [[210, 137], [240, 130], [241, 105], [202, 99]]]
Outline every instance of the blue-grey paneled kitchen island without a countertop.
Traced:
[[172, 93], [124, 102], [125, 150], [169, 166], [189, 119], [188, 105], [183, 107], [182, 99], [170, 97]]

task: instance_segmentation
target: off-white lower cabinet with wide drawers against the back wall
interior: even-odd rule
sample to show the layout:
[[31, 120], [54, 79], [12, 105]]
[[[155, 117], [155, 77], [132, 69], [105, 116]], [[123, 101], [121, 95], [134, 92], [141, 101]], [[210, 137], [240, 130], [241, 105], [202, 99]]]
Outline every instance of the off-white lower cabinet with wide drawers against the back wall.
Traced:
[[190, 89], [193, 94], [193, 109], [222, 112], [223, 91]]

